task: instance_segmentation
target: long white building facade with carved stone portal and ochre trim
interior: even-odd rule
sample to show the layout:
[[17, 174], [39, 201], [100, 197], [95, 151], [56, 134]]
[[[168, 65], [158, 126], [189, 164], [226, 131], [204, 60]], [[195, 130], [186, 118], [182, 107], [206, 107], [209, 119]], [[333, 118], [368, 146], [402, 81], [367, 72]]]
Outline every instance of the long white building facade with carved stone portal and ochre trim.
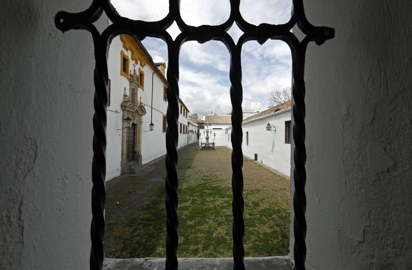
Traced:
[[[119, 35], [113, 39], [108, 57], [106, 181], [123, 175], [131, 166], [143, 165], [166, 154], [165, 70], [166, 64], [154, 63], [133, 36]], [[184, 105], [180, 99], [179, 103]], [[187, 115], [189, 110], [184, 107]], [[126, 128], [128, 117], [130, 128]], [[154, 124], [153, 130], [150, 123]], [[187, 126], [183, 112], [179, 123]], [[187, 135], [179, 133], [178, 147], [186, 144]]]

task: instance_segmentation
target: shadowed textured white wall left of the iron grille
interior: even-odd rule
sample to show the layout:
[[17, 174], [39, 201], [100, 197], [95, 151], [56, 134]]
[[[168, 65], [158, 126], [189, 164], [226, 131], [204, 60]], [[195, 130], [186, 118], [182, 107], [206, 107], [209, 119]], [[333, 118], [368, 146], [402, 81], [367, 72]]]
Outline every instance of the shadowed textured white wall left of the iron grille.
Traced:
[[2, 2], [0, 269], [87, 269], [93, 44], [54, 15], [89, 4]]

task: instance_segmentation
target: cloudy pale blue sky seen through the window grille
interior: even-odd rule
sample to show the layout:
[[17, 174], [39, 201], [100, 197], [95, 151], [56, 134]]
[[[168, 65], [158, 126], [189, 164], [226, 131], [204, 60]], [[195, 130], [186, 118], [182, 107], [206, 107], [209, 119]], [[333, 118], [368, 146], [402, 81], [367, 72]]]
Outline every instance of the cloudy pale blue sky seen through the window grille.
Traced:
[[[120, 15], [130, 19], [158, 21], [169, 12], [169, 0], [111, 0]], [[229, 0], [181, 0], [180, 12], [188, 25], [218, 25], [227, 20]], [[290, 18], [291, 0], [242, 0], [240, 11], [249, 23], [285, 23]], [[179, 33], [176, 23], [167, 30], [174, 39]], [[234, 24], [228, 31], [235, 42], [243, 33]], [[155, 62], [165, 62], [166, 44], [156, 38], [142, 41]], [[269, 93], [291, 84], [292, 60], [288, 46], [275, 40], [260, 45], [250, 41], [242, 47], [243, 108], [265, 108]], [[231, 110], [229, 53], [221, 42], [204, 44], [191, 41], [183, 44], [179, 62], [180, 98], [199, 117], [205, 114], [227, 114]]]

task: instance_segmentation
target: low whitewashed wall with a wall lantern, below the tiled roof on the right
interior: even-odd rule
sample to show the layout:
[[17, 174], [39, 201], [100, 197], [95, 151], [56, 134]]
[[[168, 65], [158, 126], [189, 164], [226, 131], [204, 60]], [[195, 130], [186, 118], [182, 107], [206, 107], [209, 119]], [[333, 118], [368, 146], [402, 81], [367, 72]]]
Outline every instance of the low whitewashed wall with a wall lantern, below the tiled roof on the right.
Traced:
[[[277, 113], [267, 118], [258, 119], [242, 124], [243, 154], [255, 158], [258, 154], [258, 161], [290, 175], [290, 144], [285, 143], [285, 121], [290, 121], [291, 111]], [[267, 131], [267, 122], [276, 126], [275, 131]], [[227, 129], [228, 134], [232, 133], [232, 127]], [[249, 144], [246, 145], [246, 132], [249, 133]], [[226, 135], [227, 147], [232, 149], [232, 141]]]

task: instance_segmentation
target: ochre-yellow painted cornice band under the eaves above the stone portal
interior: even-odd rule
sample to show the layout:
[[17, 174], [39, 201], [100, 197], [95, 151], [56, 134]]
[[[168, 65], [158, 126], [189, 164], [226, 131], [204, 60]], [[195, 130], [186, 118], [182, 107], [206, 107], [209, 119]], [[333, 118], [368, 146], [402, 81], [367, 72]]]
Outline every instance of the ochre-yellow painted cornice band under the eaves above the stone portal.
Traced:
[[[153, 71], [157, 70], [157, 67], [152, 64], [150, 56], [146, 53], [145, 49], [143, 49], [143, 47], [141, 47], [140, 44], [136, 42], [133, 36], [122, 34], [120, 35], [120, 41], [123, 44], [123, 49], [130, 51], [132, 61], [134, 61], [136, 64], [139, 63], [140, 67], [149, 65]], [[165, 84], [166, 86], [168, 85], [166, 79], [164, 79], [164, 77], [162, 77], [159, 72], [156, 72], [156, 75], [160, 80], [163, 81], [163, 84]]]

